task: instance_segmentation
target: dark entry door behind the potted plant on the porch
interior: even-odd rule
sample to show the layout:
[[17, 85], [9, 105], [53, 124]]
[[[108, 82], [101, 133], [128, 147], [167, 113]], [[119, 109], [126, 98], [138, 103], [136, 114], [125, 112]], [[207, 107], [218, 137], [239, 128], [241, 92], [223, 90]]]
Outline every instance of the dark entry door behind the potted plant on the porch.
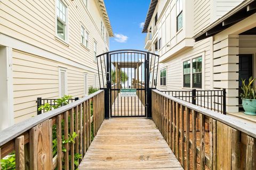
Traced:
[[242, 107], [242, 99], [240, 94], [242, 90], [242, 79], [246, 79], [246, 83], [250, 77], [253, 76], [253, 55], [252, 54], [239, 54], [239, 109]]

